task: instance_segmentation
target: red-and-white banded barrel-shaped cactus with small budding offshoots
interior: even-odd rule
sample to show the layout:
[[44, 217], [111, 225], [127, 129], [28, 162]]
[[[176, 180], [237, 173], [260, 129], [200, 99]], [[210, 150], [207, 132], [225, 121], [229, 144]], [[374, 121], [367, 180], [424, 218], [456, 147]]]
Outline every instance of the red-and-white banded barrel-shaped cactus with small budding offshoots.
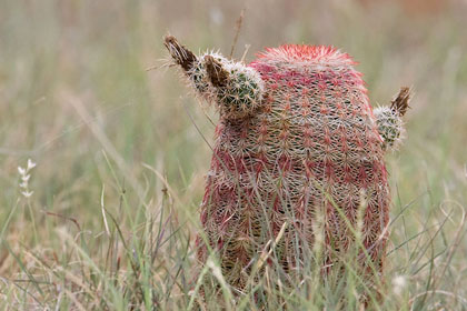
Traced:
[[165, 43], [220, 116], [199, 260], [218, 252], [226, 280], [241, 288], [270, 241], [292, 271], [318, 235], [326, 265], [359, 235], [361, 257], [381, 271], [390, 201], [384, 157], [401, 138], [409, 90], [372, 111], [355, 62], [330, 47], [269, 48], [244, 64], [197, 57], [171, 36]]

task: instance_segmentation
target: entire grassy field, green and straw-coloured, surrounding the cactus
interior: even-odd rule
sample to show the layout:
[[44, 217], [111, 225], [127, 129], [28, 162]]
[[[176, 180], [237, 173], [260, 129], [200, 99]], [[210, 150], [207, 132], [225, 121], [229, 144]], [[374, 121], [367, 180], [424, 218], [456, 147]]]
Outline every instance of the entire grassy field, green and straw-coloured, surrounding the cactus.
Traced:
[[[199, 302], [190, 285], [193, 237], [216, 117], [185, 96], [172, 72], [145, 70], [167, 57], [170, 30], [193, 50], [228, 54], [236, 40], [236, 58], [246, 44], [334, 44], [361, 63], [374, 104], [411, 86], [408, 140], [388, 158], [391, 245], [372, 308], [466, 310], [467, 7], [387, 2], [1, 1], [0, 309]], [[28, 159], [37, 167], [26, 198], [18, 167]], [[352, 269], [325, 282], [311, 268], [292, 285], [268, 272], [237, 302], [221, 287], [222, 303], [352, 310], [358, 293], [371, 292]], [[216, 258], [200, 272], [222, 284]]]

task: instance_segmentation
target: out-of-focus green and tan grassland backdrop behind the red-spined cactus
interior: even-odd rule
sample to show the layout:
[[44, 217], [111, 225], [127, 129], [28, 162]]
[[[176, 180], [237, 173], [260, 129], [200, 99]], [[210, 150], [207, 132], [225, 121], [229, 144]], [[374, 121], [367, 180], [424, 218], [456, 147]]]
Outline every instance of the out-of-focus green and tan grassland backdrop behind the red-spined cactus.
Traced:
[[[414, 88], [407, 140], [388, 156], [394, 214], [413, 202], [408, 231], [447, 202], [466, 205], [466, 1], [1, 0], [0, 223], [24, 200], [18, 165], [37, 163], [32, 212], [9, 220], [10, 244], [58, 243], [51, 228], [68, 222], [47, 212], [101, 230], [101, 198], [130, 218], [123, 189], [149, 207], [168, 189], [180, 221], [196, 223], [216, 113], [163, 68], [162, 37], [229, 56], [242, 10], [236, 59], [246, 46], [248, 62], [265, 47], [330, 44], [359, 62], [374, 107]], [[0, 274], [11, 264], [0, 249]], [[457, 268], [465, 277], [467, 262]]]

